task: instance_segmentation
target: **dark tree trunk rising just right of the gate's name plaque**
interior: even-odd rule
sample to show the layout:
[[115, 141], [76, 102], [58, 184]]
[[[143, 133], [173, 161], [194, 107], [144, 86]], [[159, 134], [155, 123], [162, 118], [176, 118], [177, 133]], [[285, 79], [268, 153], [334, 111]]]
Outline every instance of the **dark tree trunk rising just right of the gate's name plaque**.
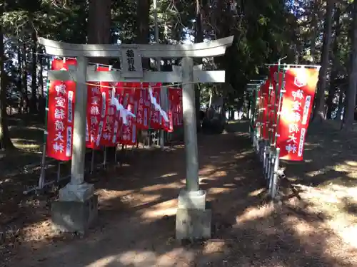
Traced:
[[[147, 44], [149, 43], [149, 11], [150, 1], [139, 0], [136, 7], [136, 43]], [[142, 58], [143, 68], [149, 70], [150, 58]]]

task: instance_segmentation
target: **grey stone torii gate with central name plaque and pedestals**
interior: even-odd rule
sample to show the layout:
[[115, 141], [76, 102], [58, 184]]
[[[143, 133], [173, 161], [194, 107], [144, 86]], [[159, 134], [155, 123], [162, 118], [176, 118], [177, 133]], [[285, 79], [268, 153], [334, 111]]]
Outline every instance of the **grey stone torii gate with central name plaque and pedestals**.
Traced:
[[[59, 201], [52, 204], [52, 221], [62, 231], [84, 232], [97, 216], [98, 199], [94, 184], [84, 182], [86, 149], [87, 81], [91, 82], [161, 82], [182, 83], [183, 127], [186, 150], [186, 188], [178, 196], [176, 238], [200, 239], [211, 236], [211, 209], [206, 209], [206, 192], [199, 189], [198, 148], [194, 83], [224, 83], [225, 71], [193, 68], [193, 58], [222, 56], [231, 46], [233, 36], [208, 43], [190, 45], [92, 45], [73, 44], [39, 38], [51, 56], [76, 57], [77, 66], [69, 71], [49, 70], [49, 80], [74, 80], [73, 152], [71, 182], [59, 191]], [[121, 58], [121, 71], [96, 72], [88, 67], [88, 58]], [[181, 68], [173, 72], [143, 70], [141, 58], [182, 58]]]

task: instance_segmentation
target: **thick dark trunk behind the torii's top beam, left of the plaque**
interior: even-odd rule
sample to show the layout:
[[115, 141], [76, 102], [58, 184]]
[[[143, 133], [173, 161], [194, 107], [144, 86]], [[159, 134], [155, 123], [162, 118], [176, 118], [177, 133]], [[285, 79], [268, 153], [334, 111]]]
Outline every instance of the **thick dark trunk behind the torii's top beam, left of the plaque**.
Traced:
[[[111, 42], [111, 0], [89, 0], [88, 43]], [[109, 58], [91, 58], [92, 62], [108, 64]]]

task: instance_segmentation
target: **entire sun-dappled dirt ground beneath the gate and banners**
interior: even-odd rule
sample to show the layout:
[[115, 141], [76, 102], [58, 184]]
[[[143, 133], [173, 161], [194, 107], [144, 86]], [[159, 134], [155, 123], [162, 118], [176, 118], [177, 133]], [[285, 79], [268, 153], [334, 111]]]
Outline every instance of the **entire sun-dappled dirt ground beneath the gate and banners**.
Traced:
[[[11, 199], [1, 198], [6, 235], [0, 239], [0, 264], [357, 266], [357, 135], [323, 127], [309, 130], [305, 162], [283, 162], [288, 179], [281, 181], [277, 204], [266, 201], [246, 122], [229, 124], [222, 135], [200, 135], [200, 182], [213, 209], [208, 241], [174, 239], [176, 199], [185, 178], [182, 145], [138, 150], [127, 164], [96, 177], [99, 221], [86, 236], [51, 231], [56, 191], [24, 197], [14, 185]], [[2, 192], [21, 184], [15, 177], [1, 181]]]

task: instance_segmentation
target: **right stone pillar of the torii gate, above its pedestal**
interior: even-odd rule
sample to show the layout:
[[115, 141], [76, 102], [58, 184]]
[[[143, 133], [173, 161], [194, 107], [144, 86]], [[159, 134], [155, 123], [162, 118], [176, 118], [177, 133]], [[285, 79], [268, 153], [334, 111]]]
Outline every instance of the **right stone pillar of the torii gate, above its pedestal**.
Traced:
[[186, 190], [198, 191], [198, 148], [196, 131], [195, 89], [193, 86], [193, 59], [182, 59], [182, 106], [186, 150]]

